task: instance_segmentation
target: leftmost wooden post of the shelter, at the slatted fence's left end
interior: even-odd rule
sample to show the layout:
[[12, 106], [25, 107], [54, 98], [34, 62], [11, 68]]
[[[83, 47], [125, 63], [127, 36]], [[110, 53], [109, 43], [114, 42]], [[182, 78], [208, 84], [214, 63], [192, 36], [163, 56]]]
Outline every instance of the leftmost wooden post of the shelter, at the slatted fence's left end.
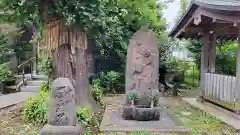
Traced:
[[205, 34], [203, 37], [203, 46], [201, 48], [201, 82], [200, 82], [200, 98], [204, 96], [205, 89], [205, 73], [208, 72], [208, 56], [209, 56], [209, 34]]

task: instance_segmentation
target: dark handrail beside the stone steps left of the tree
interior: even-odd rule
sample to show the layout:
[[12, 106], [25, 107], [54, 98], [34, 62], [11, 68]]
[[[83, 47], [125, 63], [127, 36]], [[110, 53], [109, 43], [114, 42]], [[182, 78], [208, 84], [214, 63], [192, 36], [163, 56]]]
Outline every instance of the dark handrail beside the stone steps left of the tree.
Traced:
[[18, 68], [18, 74], [20, 74], [20, 71], [22, 71], [21, 75], [22, 75], [22, 83], [25, 85], [26, 84], [26, 78], [25, 78], [25, 67], [26, 66], [29, 66], [30, 68], [30, 74], [31, 74], [31, 78], [33, 78], [33, 64], [36, 60], [36, 57], [32, 57], [26, 61], [24, 61], [22, 64], [18, 65], [17, 68]]

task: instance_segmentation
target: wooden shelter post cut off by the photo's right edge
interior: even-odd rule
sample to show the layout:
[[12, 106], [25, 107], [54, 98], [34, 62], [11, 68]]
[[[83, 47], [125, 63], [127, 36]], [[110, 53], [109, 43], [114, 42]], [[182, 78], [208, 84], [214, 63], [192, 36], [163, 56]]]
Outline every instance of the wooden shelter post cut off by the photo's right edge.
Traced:
[[240, 28], [238, 28], [238, 52], [237, 52], [237, 64], [236, 64], [236, 84], [235, 84], [235, 111], [240, 115]]

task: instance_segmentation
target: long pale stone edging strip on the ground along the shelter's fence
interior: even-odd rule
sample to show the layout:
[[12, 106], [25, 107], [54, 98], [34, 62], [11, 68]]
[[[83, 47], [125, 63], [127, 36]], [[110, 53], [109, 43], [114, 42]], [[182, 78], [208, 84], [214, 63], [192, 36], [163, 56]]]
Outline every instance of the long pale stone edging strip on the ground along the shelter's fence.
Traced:
[[182, 100], [192, 107], [199, 108], [200, 110], [215, 116], [217, 119], [232, 126], [236, 130], [240, 129], [240, 120], [234, 116], [235, 114], [233, 112], [227, 111], [208, 102], [201, 103], [197, 101], [197, 98], [182, 98]]

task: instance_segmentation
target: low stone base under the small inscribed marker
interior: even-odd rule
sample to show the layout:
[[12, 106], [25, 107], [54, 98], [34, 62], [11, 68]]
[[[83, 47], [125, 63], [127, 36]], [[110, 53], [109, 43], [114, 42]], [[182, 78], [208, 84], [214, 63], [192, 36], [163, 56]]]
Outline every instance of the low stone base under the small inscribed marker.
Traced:
[[76, 126], [52, 126], [45, 125], [40, 135], [84, 135], [84, 129], [80, 125]]

